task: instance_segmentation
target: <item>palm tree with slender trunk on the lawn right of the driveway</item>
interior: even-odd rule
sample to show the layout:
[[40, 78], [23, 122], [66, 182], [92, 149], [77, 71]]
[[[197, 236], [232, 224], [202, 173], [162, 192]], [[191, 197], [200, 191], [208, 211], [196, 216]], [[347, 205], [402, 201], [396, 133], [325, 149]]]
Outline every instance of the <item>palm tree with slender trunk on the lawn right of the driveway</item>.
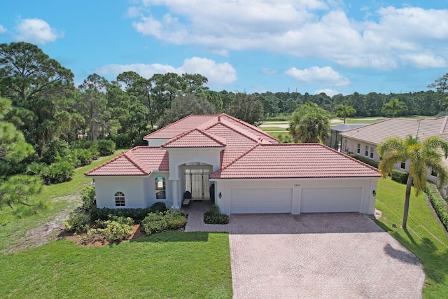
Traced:
[[379, 162], [379, 172], [386, 178], [393, 171], [393, 165], [402, 161], [409, 161], [409, 176], [407, 177], [405, 193], [405, 211], [402, 228], [406, 229], [409, 211], [409, 197], [414, 183], [415, 195], [419, 195], [426, 186], [427, 168], [437, 173], [438, 188], [447, 185], [448, 170], [444, 166], [444, 158], [448, 157], [448, 141], [441, 137], [429, 137], [421, 142], [418, 137], [408, 135], [405, 139], [388, 137], [378, 144], [377, 151], [382, 158]]

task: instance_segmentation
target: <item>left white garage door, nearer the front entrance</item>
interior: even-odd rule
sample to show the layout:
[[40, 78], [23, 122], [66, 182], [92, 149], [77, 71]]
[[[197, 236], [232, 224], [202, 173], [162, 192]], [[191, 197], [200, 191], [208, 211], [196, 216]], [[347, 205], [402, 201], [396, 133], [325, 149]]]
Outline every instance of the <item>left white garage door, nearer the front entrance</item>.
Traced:
[[293, 188], [236, 188], [230, 190], [230, 213], [290, 213], [292, 201]]

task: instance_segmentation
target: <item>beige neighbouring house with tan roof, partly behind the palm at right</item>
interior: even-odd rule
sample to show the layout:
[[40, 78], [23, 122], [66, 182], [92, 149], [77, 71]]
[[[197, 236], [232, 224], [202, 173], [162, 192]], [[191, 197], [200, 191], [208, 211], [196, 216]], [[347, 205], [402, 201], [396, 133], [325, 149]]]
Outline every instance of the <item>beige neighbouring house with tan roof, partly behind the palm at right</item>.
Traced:
[[[379, 162], [377, 145], [386, 137], [400, 137], [404, 139], [407, 135], [419, 137], [421, 141], [431, 136], [448, 138], [448, 116], [440, 118], [421, 118], [417, 120], [407, 118], [389, 118], [387, 120], [372, 123], [363, 127], [342, 132], [342, 152], [356, 153], [365, 158]], [[445, 160], [448, 165], [448, 161]], [[402, 161], [395, 165], [395, 169], [409, 172], [409, 162]], [[428, 181], [437, 183], [437, 174], [428, 169]], [[446, 190], [442, 190], [446, 195]]]

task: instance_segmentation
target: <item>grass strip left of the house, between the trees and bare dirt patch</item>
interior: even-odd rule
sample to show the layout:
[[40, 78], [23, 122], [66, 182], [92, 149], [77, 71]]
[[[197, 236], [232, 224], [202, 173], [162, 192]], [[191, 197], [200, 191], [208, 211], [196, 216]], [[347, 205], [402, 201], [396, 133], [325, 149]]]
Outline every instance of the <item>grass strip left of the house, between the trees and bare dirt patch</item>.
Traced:
[[[73, 179], [69, 182], [43, 186], [40, 194], [29, 199], [29, 203], [31, 204], [38, 200], [48, 202], [48, 209], [41, 211], [39, 214], [20, 219], [13, 214], [13, 210], [10, 207], [3, 207], [0, 211], [0, 251], [3, 251], [8, 245], [14, 242], [15, 238], [13, 235], [20, 237], [26, 230], [36, 228], [38, 225], [48, 222], [52, 216], [55, 216], [63, 209], [76, 209], [80, 204], [77, 198], [79, 191], [92, 181], [90, 178], [85, 178], [84, 173], [122, 152], [123, 150], [116, 151], [114, 155], [99, 158], [93, 161], [91, 165], [76, 169]], [[73, 197], [75, 197], [74, 200]]]

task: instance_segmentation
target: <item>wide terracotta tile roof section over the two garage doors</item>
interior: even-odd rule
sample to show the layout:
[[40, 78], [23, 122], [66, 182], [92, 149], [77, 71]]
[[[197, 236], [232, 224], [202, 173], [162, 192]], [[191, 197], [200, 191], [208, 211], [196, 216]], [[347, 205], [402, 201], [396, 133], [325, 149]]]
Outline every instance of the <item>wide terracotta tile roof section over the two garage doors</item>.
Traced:
[[377, 169], [322, 144], [259, 144], [211, 179], [379, 177]]

